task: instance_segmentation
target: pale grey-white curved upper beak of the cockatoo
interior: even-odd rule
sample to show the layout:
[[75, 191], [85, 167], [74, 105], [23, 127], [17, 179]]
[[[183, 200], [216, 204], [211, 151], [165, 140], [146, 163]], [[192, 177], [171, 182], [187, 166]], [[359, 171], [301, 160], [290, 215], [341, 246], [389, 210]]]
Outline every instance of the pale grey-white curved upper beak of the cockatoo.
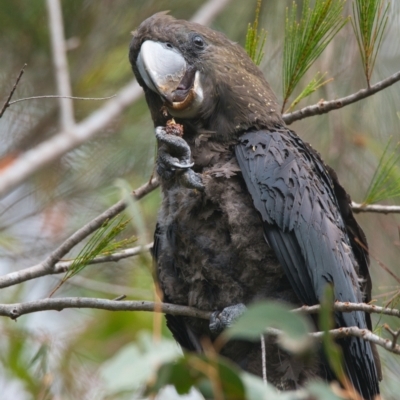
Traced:
[[187, 70], [182, 54], [168, 43], [146, 40], [136, 65], [147, 87], [172, 103], [173, 92]]

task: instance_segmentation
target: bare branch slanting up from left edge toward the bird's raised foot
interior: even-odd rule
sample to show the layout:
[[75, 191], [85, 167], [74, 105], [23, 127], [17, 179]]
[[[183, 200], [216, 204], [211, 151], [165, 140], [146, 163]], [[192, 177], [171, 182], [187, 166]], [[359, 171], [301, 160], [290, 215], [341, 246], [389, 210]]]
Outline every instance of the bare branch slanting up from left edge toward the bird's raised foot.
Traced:
[[[134, 199], [141, 199], [146, 194], [154, 190], [157, 186], [158, 180], [153, 178], [150, 182], [134, 190]], [[84, 225], [82, 228], [78, 229], [41, 263], [34, 265], [33, 267], [3, 275], [0, 277], [0, 288], [16, 285], [30, 279], [39, 278], [41, 276], [58, 273], [54, 272], [54, 265], [59, 262], [61, 258], [65, 256], [65, 254], [67, 254], [76, 244], [81, 242], [96, 229], [100, 228], [106, 220], [115, 217], [117, 214], [125, 210], [125, 208], [126, 203], [122, 200], [119, 201], [108, 210], [94, 218], [92, 221]]]

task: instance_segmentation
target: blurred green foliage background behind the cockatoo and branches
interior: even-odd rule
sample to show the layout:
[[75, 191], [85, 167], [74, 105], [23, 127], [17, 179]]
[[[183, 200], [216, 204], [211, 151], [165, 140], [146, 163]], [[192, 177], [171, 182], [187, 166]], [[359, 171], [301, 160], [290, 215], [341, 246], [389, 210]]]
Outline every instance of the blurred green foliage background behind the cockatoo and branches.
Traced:
[[[103, 97], [116, 93], [133, 79], [127, 59], [130, 32], [157, 11], [170, 10], [175, 17], [189, 19], [204, 3], [203, 0], [63, 0], [73, 94]], [[296, 3], [299, 10], [305, 2]], [[255, 56], [278, 94], [284, 92], [282, 58], [286, 7], [289, 6], [292, 7], [292, 0], [265, 1], [258, 19], [258, 26], [268, 29], [268, 41], [261, 50], [265, 56], [261, 59], [262, 53], [258, 50]], [[211, 26], [245, 45], [247, 26], [254, 19], [255, 8], [256, 0], [232, 1]], [[351, 2], [347, 2], [343, 17], [351, 11]], [[296, 11], [292, 15], [293, 21], [300, 19], [298, 14]], [[386, 35], [382, 37], [379, 57], [374, 60], [376, 81], [394, 73], [400, 65], [399, 15], [400, 4], [392, 2], [391, 13], [384, 14], [388, 18]], [[255, 31], [253, 40], [256, 37]], [[55, 93], [44, 0], [0, 2], [0, 62], [0, 103], [24, 63], [28, 67], [14, 99]], [[310, 91], [309, 104], [321, 98], [351, 94], [365, 86], [364, 70], [354, 32], [345, 26], [317, 61], [304, 71], [304, 78], [293, 94], [298, 98], [304, 89], [301, 82], [312, 82], [319, 71], [327, 71], [334, 82], [320, 87], [321, 81], [315, 80], [313, 88], [318, 90]], [[280, 100], [283, 102], [282, 97]], [[90, 115], [99, 104], [74, 102], [77, 121]], [[297, 122], [293, 129], [322, 153], [344, 187], [359, 201], [389, 137], [393, 136], [393, 143], [400, 140], [396, 115], [400, 112], [399, 104], [400, 91], [395, 86], [340, 111]], [[58, 131], [57, 107], [53, 99], [42, 99], [18, 103], [7, 110], [0, 120], [0, 168]], [[116, 185], [116, 179], [123, 179], [131, 187], [145, 183], [153, 172], [154, 146], [153, 126], [142, 98], [112, 125], [104, 127], [95, 139], [44, 168], [4, 199], [0, 204], [1, 273], [41, 261], [65, 237], [119, 200], [121, 185]], [[384, 154], [391, 154], [392, 150], [389, 146]], [[148, 240], [151, 240], [159, 202], [159, 192], [155, 191], [127, 215], [140, 214]], [[399, 217], [362, 215], [358, 219], [366, 229], [374, 256], [400, 275]], [[141, 238], [143, 229], [135, 222], [128, 225], [123, 237]], [[84, 245], [68, 257], [78, 255]], [[154, 292], [151, 268], [146, 257], [87, 266], [82, 274], [84, 281], [75, 279], [80, 276], [72, 277], [57, 295], [115, 298], [126, 294], [132, 299], [151, 300]], [[374, 296], [382, 304], [397, 304], [399, 287], [382, 271], [373, 261]], [[48, 277], [3, 289], [0, 298], [2, 302], [43, 298], [58, 281], [59, 278]], [[151, 313], [67, 310], [24, 316], [17, 323], [2, 319], [2, 398], [16, 398], [15, 393], [21, 399], [132, 398], [132, 390], [144, 388], [151, 377], [155, 385], [161, 385], [176, 377], [175, 368], [186, 368], [185, 372], [191, 373], [192, 358], [201, 357], [186, 356], [177, 364], [171, 363], [172, 357], [180, 357], [179, 349], [165, 326], [158, 345], [155, 344], [152, 331], [157, 325], [156, 318]], [[386, 317], [375, 321], [379, 326], [386, 322], [393, 329], [400, 328], [396, 326], [397, 321]], [[385, 367], [382, 391], [390, 398], [400, 390], [400, 365], [395, 356], [381, 354]], [[167, 363], [163, 374], [156, 375], [155, 364], [163, 362]], [[224, 362], [220, 363], [225, 368]], [[258, 378], [239, 373], [231, 366], [226, 368], [227, 374], [234, 374], [236, 384], [245, 388], [248, 398], [259, 398], [267, 390]], [[142, 380], [133, 379], [139, 372]], [[204, 374], [196, 374], [193, 379], [200, 382], [199, 376]], [[205, 382], [202, 387], [209, 390], [210, 384], [207, 386]], [[313, 384], [307, 390], [320, 398], [336, 398], [328, 393], [326, 385]]]

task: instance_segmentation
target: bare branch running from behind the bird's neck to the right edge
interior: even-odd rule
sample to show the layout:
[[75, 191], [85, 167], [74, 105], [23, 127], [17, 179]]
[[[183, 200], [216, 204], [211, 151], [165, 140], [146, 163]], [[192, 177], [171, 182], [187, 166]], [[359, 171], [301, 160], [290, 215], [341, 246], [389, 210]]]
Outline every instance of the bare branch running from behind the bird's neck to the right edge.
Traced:
[[287, 125], [290, 125], [292, 122], [298, 121], [303, 118], [313, 117], [314, 115], [326, 114], [327, 112], [332, 110], [338, 110], [339, 108], [345, 107], [349, 104], [365, 99], [366, 97], [372, 96], [373, 94], [380, 92], [381, 90], [386, 89], [387, 87], [393, 85], [399, 80], [400, 80], [400, 71], [396, 72], [389, 78], [386, 78], [383, 81], [380, 81], [367, 89], [361, 89], [358, 92], [351, 94], [350, 96], [342, 97], [337, 100], [320, 101], [318, 104], [304, 107], [301, 110], [294, 111], [289, 114], [284, 114], [283, 120]]

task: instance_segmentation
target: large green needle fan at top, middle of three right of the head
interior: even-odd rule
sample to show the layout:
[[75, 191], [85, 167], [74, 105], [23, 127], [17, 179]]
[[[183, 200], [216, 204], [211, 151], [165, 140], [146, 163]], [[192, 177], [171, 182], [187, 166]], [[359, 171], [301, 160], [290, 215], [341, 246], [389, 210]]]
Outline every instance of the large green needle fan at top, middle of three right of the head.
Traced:
[[313, 9], [309, 3], [304, 0], [299, 22], [295, 2], [286, 10], [282, 111], [300, 79], [348, 21], [342, 16], [344, 0], [316, 0]]

